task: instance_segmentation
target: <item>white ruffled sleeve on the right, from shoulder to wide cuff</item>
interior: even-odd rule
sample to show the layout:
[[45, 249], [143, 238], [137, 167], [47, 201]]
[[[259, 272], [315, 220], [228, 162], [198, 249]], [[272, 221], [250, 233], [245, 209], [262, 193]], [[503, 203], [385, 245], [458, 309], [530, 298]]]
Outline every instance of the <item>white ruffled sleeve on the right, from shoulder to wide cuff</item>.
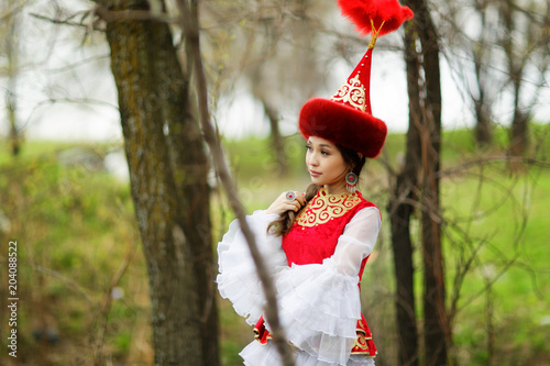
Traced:
[[279, 315], [295, 346], [320, 361], [346, 364], [361, 319], [359, 271], [380, 228], [378, 209], [362, 209], [345, 226], [331, 257], [322, 264], [293, 264], [277, 275]]

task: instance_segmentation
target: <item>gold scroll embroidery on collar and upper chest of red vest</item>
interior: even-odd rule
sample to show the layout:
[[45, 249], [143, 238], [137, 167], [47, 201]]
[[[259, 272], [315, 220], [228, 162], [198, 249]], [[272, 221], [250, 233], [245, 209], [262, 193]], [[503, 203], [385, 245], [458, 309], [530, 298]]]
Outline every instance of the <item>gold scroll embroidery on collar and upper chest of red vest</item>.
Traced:
[[300, 226], [312, 228], [331, 219], [343, 217], [360, 202], [361, 198], [358, 195], [328, 195], [321, 188], [319, 195], [301, 210], [295, 223]]

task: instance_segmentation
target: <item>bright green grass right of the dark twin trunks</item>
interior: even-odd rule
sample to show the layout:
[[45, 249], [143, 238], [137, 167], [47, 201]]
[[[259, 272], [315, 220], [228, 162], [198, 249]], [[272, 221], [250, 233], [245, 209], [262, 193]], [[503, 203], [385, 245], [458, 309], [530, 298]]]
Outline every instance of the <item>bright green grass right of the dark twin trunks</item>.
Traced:
[[[486, 356], [488, 312], [498, 350], [527, 357], [550, 341], [550, 326], [541, 325], [550, 302], [550, 171], [534, 168], [514, 178], [498, 169], [484, 170], [484, 180], [466, 176], [446, 181], [443, 188], [448, 219], [460, 219], [446, 231], [452, 237], [444, 241], [448, 279], [455, 275], [458, 258], [473, 255], [472, 247], [480, 246], [461, 287], [454, 332], [457, 346], [469, 348], [475, 364]], [[448, 289], [457, 290], [451, 281]]]

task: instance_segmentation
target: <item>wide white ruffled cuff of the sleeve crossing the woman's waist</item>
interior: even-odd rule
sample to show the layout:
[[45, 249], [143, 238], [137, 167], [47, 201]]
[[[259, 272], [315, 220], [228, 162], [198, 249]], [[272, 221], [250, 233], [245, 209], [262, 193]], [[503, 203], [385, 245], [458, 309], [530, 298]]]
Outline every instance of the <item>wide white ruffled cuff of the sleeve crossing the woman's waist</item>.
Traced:
[[331, 258], [280, 271], [276, 286], [287, 339], [320, 362], [346, 365], [361, 319], [358, 282], [358, 276], [337, 271]]

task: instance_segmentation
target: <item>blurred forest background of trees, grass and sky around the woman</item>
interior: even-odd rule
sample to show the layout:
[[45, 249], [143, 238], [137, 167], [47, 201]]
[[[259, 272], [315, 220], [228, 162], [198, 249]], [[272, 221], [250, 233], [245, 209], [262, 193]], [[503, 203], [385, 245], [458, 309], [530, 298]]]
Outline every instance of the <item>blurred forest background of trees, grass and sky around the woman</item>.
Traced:
[[[201, 135], [197, 103], [201, 89], [194, 86], [199, 77], [191, 76], [191, 66], [197, 62], [191, 58], [193, 45], [186, 43], [190, 33], [182, 26], [182, 3], [13, 0], [2, 4], [0, 67], [6, 143], [0, 153], [0, 304], [2, 309], [8, 304], [7, 246], [11, 240], [19, 245], [21, 299], [18, 358], [3, 352], [2, 365], [161, 365], [166, 361], [160, 354], [173, 352], [160, 345], [163, 336], [185, 344], [180, 354], [174, 352], [173, 357], [193, 358], [189, 350], [194, 348], [188, 342], [193, 336], [200, 340], [202, 348], [195, 354], [206, 359], [209, 353], [216, 359], [204, 362], [206, 365], [240, 364], [237, 354], [251, 341], [252, 332], [231, 306], [217, 297], [213, 284], [208, 281], [208, 276], [216, 271], [216, 243], [235, 213], [223, 189], [226, 182], [216, 174], [216, 162], [205, 154], [202, 138], [187, 143], [177, 140], [179, 135]], [[546, 213], [550, 197], [550, 52], [546, 41], [550, 7], [544, 1], [512, 0], [419, 3], [429, 11], [415, 9], [416, 19], [429, 14], [435, 20], [433, 44], [439, 46], [443, 70], [438, 84], [443, 86], [440, 106], [447, 112], [439, 130], [424, 130], [428, 137], [418, 140], [420, 149], [433, 147], [437, 152], [429, 159], [438, 163], [431, 176], [438, 179], [439, 199], [438, 206], [432, 207], [422, 198], [429, 191], [421, 185], [421, 177], [428, 177], [422, 171], [429, 170], [429, 164], [419, 165], [413, 174], [420, 177], [414, 189], [405, 193], [397, 189], [399, 177], [410, 166], [410, 141], [415, 141], [411, 127], [403, 120], [413, 121], [413, 126], [415, 121], [430, 122], [430, 118], [410, 117], [414, 108], [407, 106], [405, 90], [406, 73], [410, 69], [403, 60], [408, 41], [402, 31], [381, 38], [375, 48], [374, 58], [378, 60], [373, 65], [373, 109], [388, 123], [391, 134], [384, 153], [369, 164], [361, 182], [361, 190], [383, 210], [384, 218], [362, 285], [363, 308], [380, 350], [376, 362], [436, 363], [430, 359], [432, 353], [427, 352], [430, 340], [426, 336], [426, 304], [419, 306], [426, 301], [428, 288], [422, 277], [428, 271], [422, 230], [424, 215], [428, 213], [428, 220], [436, 222], [441, 232], [444, 319], [440, 323], [447, 332], [443, 357], [452, 365], [550, 365], [550, 271], [546, 260], [550, 254]], [[193, 16], [194, 3], [188, 5]], [[208, 81], [210, 117], [218, 127], [239, 197], [250, 213], [267, 207], [280, 191], [302, 190], [307, 186], [304, 142], [295, 126], [299, 107], [314, 95], [332, 95], [366, 49], [369, 37], [358, 37], [331, 1], [202, 1], [198, 10], [200, 18], [195, 14], [195, 19], [200, 21], [200, 55]], [[110, 27], [119, 23], [124, 26]], [[140, 29], [136, 24], [153, 25]], [[417, 33], [421, 31], [420, 26]], [[150, 37], [133, 38], [136, 34]], [[167, 62], [169, 55], [163, 54], [167, 34], [167, 44], [177, 56], [173, 64]], [[135, 43], [130, 43], [132, 40]], [[430, 70], [422, 65], [427, 47], [420, 38], [413, 44], [420, 65], [416, 82], [420, 88], [419, 106], [427, 111], [433, 102], [429, 95]], [[141, 146], [142, 153], [140, 145], [132, 145], [139, 143], [139, 138], [132, 140], [139, 133], [132, 135], [133, 126], [125, 120], [131, 114], [131, 103], [123, 100], [124, 85], [117, 79], [136, 70], [135, 65], [123, 60], [120, 49], [124, 45], [128, 55], [132, 55], [132, 49], [143, 49], [141, 55], [150, 63], [147, 70], [158, 66], [155, 55], [164, 59], [162, 69], [179, 68], [168, 78], [153, 78], [141, 85], [145, 87], [142, 102], [135, 102], [136, 109], [151, 115], [144, 125], [155, 125], [153, 115], [162, 114], [156, 124], [161, 133], [144, 132], [144, 140], [150, 141]], [[122, 55], [122, 62], [116, 59], [117, 55]], [[122, 65], [118, 70], [112, 66], [117, 62]], [[138, 73], [142, 75], [138, 78], [147, 76], [145, 68], [140, 67], [143, 74]], [[182, 89], [176, 92], [170, 84]], [[151, 91], [147, 85], [160, 89]], [[187, 85], [191, 87], [183, 87]], [[182, 93], [182, 100], [174, 97]], [[179, 109], [165, 107], [160, 101], [165, 95], [167, 100], [175, 99], [173, 104]], [[195, 103], [197, 107], [193, 107]], [[173, 114], [176, 120], [185, 115], [190, 124], [170, 124]], [[65, 134], [67, 130], [75, 133]], [[173, 137], [178, 131], [179, 135]], [[161, 135], [169, 138], [164, 141]], [[67, 137], [75, 141], [66, 141]], [[426, 144], [427, 140], [432, 144]], [[129, 146], [138, 147], [132, 151]], [[166, 297], [156, 291], [165, 288], [166, 293], [172, 293], [173, 288], [163, 278], [153, 278], [151, 264], [153, 257], [163, 259], [152, 254], [162, 252], [161, 246], [152, 243], [168, 243], [169, 247], [170, 239], [158, 239], [157, 230], [144, 230], [146, 220], [140, 213], [140, 204], [147, 202], [139, 198], [146, 195], [136, 195], [135, 188], [136, 182], [150, 181], [155, 174], [147, 176], [143, 169], [139, 177], [138, 170], [132, 170], [141, 166], [132, 165], [134, 158], [144, 162], [146, 152], [162, 151], [160, 146], [164, 146], [170, 162], [170, 168], [163, 174], [175, 177], [174, 192], [186, 192], [175, 197], [185, 197], [182, 201], [187, 203], [180, 207], [169, 198], [155, 197], [161, 203], [172, 202], [170, 210], [198, 212], [189, 217], [175, 214], [173, 220], [190, 220], [190, 224], [182, 224], [183, 235], [189, 239], [182, 245], [207, 243], [211, 258], [201, 262], [202, 274], [174, 274], [182, 276], [177, 277], [180, 281], [170, 285], [183, 289], [180, 299], [195, 301], [179, 301], [177, 310], [182, 315], [167, 315], [174, 326], [165, 326], [158, 319], [162, 303], [157, 302]], [[209, 152], [212, 151], [210, 146]], [[138, 155], [132, 155], [135, 152]], [[156, 155], [154, 158], [162, 162]], [[154, 165], [151, 169], [164, 171]], [[195, 174], [197, 169], [200, 171]], [[190, 185], [189, 177], [204, 181]], [[208, 199], [199, 200], [199, 204], [208, 210], [190, 210], [195, 207], [193, 198], [204, 197], [205, 191]], [[392, 218], [398, 211], [397, 203], [411, 209], [409, 278], [414, 280], [416, 306], [411, 318], [418, 343], [413, 343], [415, 351], [409, 358], [403, 356], [404, 333], [396, 319], [403, 303], [394, 262], [396, 235]], [[170, 235], [178, 254], [180, 233]], [[197, 253], [183, 254], [193, 260], [197, 258]], [[164, 259], [168, 260], [169, 255]], [[206, 301], [189, 296], [195, 291], [201, 298], [195, 284], [186, 278], [210, 284], [201, 285], [207, 289]], [[209, 302], [212, 293], [216, 299]], [[219, 308], [219, 314], [212, 312], [213, 308]], [[186, 309], [193, 317], [184, 315]], [[219, 319], [219, 329], [205, 331], [204, 324], [188, 325], [187, 321], [193, 323], [193, 319], [207, 312], [211, 319]], [[10, 331], [7, 315], [0, 314], [2, 340]], [[219, 340], [219, 353], [215, 340]]]

